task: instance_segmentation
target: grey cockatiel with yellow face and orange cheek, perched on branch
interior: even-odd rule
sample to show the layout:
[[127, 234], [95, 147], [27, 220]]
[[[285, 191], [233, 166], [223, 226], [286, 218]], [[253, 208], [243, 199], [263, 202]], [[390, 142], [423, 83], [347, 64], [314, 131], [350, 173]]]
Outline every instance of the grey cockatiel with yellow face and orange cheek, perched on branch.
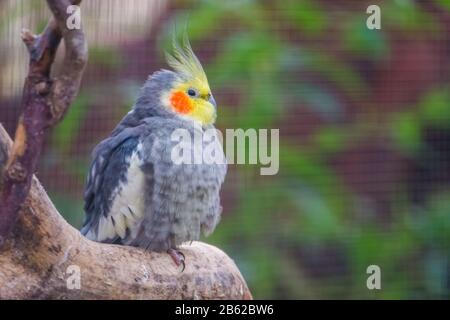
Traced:
[[[81, 233], [167, 252], [184, 270], [179, 246], [211, 234], [220, 221], [227, 164], [173, 161], [174, 130], [200, 136], [215, 130], [217, 104], [186, 36], [173, 41], [166, 60], [171, 70], [147, 78], [130, 112], [93, 149]], [[212, 143], [225, 159], [217, 136]], [[194, 156], [201, 152], [187, 147]]]

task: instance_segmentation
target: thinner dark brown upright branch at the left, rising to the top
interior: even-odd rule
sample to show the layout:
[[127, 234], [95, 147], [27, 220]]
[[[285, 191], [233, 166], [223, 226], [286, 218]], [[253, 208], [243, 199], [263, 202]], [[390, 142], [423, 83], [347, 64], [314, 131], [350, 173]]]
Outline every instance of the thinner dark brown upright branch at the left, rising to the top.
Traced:
[[[22, 33], [30, 53], [30, 64], [13, 149], [2, 172], [0, 245], [17, 221], [18, 211], [30, 190], [45, 132], [62, 119], [76, 97], [87, 61], [83, 31], [66, 27], [66, 8], [80, 1], [47, 0], [47, 3], [54, 19], [44, 32], [39, 36], [27, 30]], [[59, 76], [51, 79], [51, 66], [61, 37], [66, 46], [64, 67]]]

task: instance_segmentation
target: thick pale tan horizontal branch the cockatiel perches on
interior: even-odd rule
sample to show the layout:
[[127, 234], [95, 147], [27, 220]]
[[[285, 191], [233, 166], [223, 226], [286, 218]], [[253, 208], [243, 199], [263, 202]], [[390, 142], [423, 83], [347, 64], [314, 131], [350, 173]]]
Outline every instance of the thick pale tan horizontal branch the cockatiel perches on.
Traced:
[[[0, 125], [0, 169], [10, 144]], [[20, 211], [0, 248], [0, 299], [251, 299], [234, 262], [213, 246], [181, 246], [180, 272], [166, 253], [87, 240], [35, 177]], [[80, 270], [80, 289], [67, 287], [70, 266]]]

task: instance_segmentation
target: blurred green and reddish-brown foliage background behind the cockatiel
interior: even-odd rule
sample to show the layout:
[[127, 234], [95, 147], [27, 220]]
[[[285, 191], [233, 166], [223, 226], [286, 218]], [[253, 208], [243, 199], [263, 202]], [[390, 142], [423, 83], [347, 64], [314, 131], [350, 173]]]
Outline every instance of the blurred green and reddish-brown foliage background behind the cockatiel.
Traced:
[[[377, 2], [382, 29], [368, 30]], [[172, 2], [142, 39], [157, 44], [151, 62], [90, 43], [42, 179], [79, 226], [88, 154], [143, 80], [121, 74], [163, 67], [174, 26], [188, 21], [218, 127], [280, 129], [279, 173], [231, 167], [222, 222], [205, 240], [236, 261], [255, 298], [450, 298], [449, 10], [446, 0]], [[114, 108], [103, 100], [112, 92]], [[379, 291], [366, 288], [372, 264]]]

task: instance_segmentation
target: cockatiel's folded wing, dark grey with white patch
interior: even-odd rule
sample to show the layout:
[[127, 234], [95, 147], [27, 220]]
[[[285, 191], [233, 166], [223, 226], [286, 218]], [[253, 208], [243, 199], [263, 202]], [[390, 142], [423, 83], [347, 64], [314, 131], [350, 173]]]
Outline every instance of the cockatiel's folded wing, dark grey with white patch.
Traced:
[[132, 172], [130, 176], [128, 169], [138, 143], [139, 128], [129, 128], [103, 140], [93, 151], [84, 194], [86, 218], [81, 229], [91, 240], [115, 242], [129, 231], [127, 227], [131, 223], [126, 217], [133, 217], [133, 204], [125, 203], [127, 212], [120, 210], [122, 202], [127, 200], [122, 195], [133, 191], [124, 184], [137, 178], [134, 176], [137, 173]]

